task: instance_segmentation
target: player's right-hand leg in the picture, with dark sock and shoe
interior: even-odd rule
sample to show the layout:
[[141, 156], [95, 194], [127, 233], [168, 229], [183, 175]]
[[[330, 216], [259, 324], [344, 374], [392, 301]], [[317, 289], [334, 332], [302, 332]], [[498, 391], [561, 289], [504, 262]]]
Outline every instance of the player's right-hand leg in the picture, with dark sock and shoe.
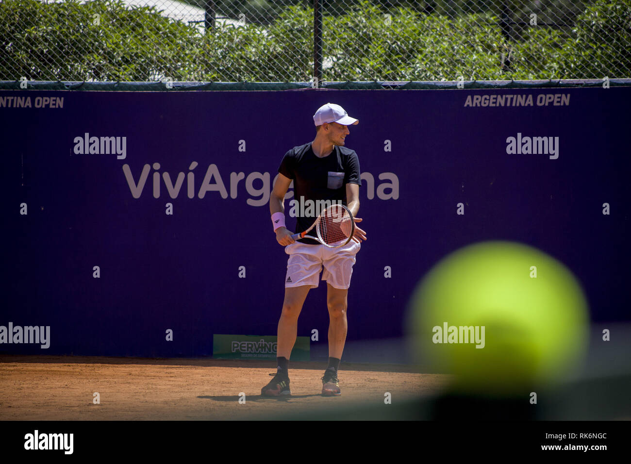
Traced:
[[346, 343], [346, 320], [348, 290], [332, 287], [327, 282], [326, 303], [329, 308], [329, 366], [322, 377], [322, 395], [338, 396], [341, 394], [338, 382], [339, 360]]

